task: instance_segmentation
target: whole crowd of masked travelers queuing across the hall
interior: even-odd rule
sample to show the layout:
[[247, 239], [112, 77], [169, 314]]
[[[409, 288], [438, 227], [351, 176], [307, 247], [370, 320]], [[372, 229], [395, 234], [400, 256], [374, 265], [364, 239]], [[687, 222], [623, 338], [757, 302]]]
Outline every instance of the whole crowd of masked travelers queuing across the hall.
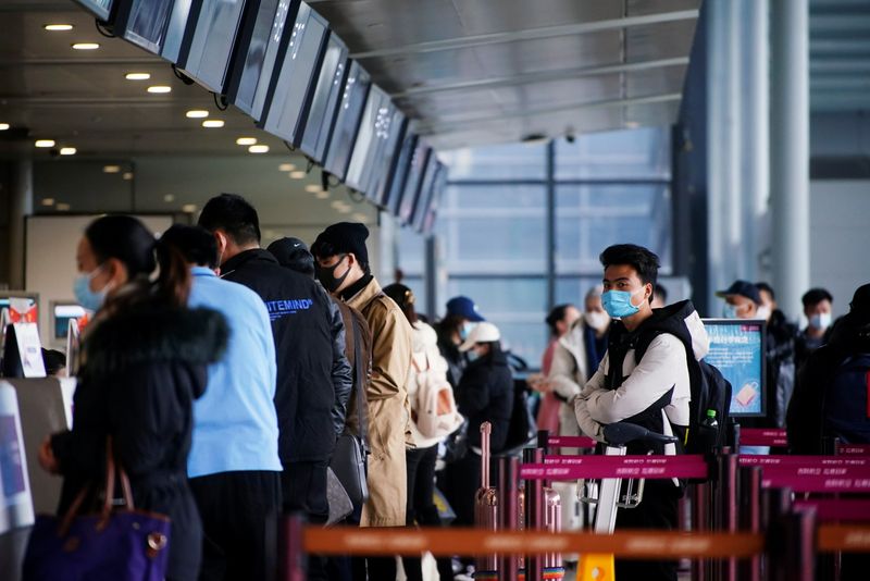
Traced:
[[[341, 222], [310, 249], [298, 238], [264, 249], [257, 211], [228, 194], [209, 200], [197, 225], [159, 237], [130, 217], [94, 221], [76, 251], [75, 296], [96, 316], [73, 428], [39, 450], [41, 466], [63, 478], [59, 514], [101, 477], [111, 442], [136, 507], [171, 519], [166, 579], [271, 581], [286, 515], [315, 526], [438, 527], [449, 512], [435, 503], [440, 492], [452, 523], [473, 526], [480, 429], [490, 422], [493, 453], [517, 444], [513, 423], [527, 411], [518, 385], [539, 394], [537, 425], [551, 433], [600, 441], [606, 424], [623, 420], [666, 434], [687, 428], [689, 368], [709, 341], [689, 301], [668, 304], [649, 250], [601, 254], [602, 284], [582, 308], [549, 313], [542, 371], [526, 383], [471, 298], [451, 298], [430, 324], [410, 287], [382, 287], [368, 236], [363, 224]], [[870, 285], [836, 322], [831, 294], [807, 292], [803, 330], [767, 284], [735, 281], [719, 295], [723, 317], [767, 322], [770, 405], [754, 425], [787, 428], [804, 454], [832, 433], [870, 438], [867, 418], [835, 423], [820, 413], [848, 408], [836, 400], [848, 393], [844, 366], [868, 367]], [[637, 446], [631, 452], [676, 453]], [[676, 528], [680, 484], [646, 485], [642, 508], [617, 526]], [[576, 485], [558, 490], [563, 528], [580, 528]], [[423, 579], [421, 558], [400, 563], [407, 579]], [[398, 565], [311, 555], [307, 574], [391, 581]], [[436, 567], [442, 580], [472, 573], [459, 559]], [[669, 561], [618, 560], [617, 573], [676, 579]]]

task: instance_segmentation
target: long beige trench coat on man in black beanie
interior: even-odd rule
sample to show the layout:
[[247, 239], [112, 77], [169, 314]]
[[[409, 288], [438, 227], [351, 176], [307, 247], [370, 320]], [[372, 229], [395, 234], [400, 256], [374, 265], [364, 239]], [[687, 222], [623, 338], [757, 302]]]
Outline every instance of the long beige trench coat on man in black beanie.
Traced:
[[405, 449], [411, 442], [406, 384], [411, 369], [413, 331], [399, 307], [372, 280], [347, 304], [372, 331], [369, 398], [369, 502], [362, 527], [405, 527], [408, 475]]

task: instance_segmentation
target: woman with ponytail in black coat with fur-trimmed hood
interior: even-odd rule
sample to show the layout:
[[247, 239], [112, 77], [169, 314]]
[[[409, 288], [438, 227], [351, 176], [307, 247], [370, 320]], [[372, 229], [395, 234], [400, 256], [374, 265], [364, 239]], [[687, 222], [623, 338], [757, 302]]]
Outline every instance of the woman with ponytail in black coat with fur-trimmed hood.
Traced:
[[192, 400], [206, 388], [206, 366], [225, 348], [226, 322], [215, 311], [187, 309], [184, 258], [135, 218], [94, 221], [76, 260], [76, 298], [97, 316], [83, 342], [73, 429], [39, 452], [42, 467], [63, 475], [59, 514], [101, 481], [111, 436], [136, 508], [171, 519], [166, 579], [196, 579], [202, 531], [186, 474]]

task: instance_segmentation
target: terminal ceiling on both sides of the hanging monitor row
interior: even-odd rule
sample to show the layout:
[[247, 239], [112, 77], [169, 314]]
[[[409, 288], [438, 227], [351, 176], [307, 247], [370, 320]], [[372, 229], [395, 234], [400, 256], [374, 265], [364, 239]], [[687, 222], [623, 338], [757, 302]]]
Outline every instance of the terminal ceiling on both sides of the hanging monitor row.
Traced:
[[[675, 119], [698, 0], [314, 0], [373, 79], [438, 150], [529, 136], [668, 125]], [[223, 131], [253, 131], [231, 107], [224, 129], [201, 87], [120, 39], [105, 38], [72, 0], [0, 0], [0, 116], [29, 132], [0, 137], [27, 156], [33, 138], [75, 141], [79, 154], [235, 154]], [[69, 23], [70, 32], [44, 25]], [[98, 42], [97, 50], [72, 50]], [[128, 72], [150, 73], [127, 81]], [[167, 85], [169, 94], [148, 94]], [[256, 132], [272, 151], [277, 138]]]

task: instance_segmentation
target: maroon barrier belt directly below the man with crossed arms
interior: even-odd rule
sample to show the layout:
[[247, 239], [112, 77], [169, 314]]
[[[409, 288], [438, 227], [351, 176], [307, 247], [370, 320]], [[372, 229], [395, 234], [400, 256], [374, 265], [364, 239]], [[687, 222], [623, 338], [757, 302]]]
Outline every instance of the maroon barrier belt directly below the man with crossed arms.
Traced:
[[681, 456], [547, 456], [544, 463], [523, 465], [524, 480], [579, 480], [599, 478], [697, 478], [708, 474], [700, 455]]

